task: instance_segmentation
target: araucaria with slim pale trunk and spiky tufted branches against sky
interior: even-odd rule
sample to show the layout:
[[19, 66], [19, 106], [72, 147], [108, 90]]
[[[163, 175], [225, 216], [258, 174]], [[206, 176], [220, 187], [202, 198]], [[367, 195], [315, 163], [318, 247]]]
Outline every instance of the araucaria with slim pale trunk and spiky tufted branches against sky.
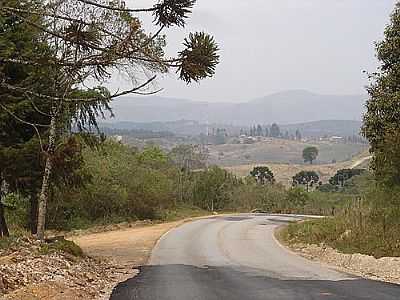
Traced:
[[[27, 8], [24, 4], [30, 2]], [[214, 74], [218, 47], [206, 33], [192, 33], [176, 57], [166, 57], [165, 28], [184, 27], [195, 0], [161, 0], [148, 8], [131, 8], [124, 1], [45, 0], [10, 1], [0, 7], [2, 16], [40, 31], [38, 55], [24, 53], [0, 57], [1, 63], [25, 65], [41, 72], [42, 89], [27, 82], [13, 82], [0, 74], [0, 87], [9, 94], [33, 99], [48, 109], [45, 169], [38, 208], [38, 238], [44, 239], [46, 205], [52, 185], [54, 157], [60, 138], [71, 124], [80, 130], [97, 127], [97, 118], [110, 110], [110, 101], [127, 94], [153, 94], [157, 73], [176, 69], [186, 83]], [[143, 14], [153, 16], [155, 33], [147, 33], [140, 22]], [[13, 51], [13, 49], [10, 49]], [[115, 74], [129, 79], [132, 86], [116, 92], [104, 88]], [[2, 109], [10, 111], [1, 100]], [[45, 104], [45, 105], [43, 105]], [[14, 115], [23, 120], [23, 116]], [[38, 124], [31, 124], [37, 127]]]

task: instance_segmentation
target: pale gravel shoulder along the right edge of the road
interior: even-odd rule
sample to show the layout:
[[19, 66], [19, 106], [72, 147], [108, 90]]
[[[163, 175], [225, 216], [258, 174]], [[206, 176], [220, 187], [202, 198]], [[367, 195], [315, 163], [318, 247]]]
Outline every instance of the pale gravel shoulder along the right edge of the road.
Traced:
[[336, 270], [362, 278], [400, 284], [400, 257], [376, 259], [359, 253], [344, 254], [326, 245], [292, 244], [284, 237], [284, 226], [277, 228], [275, 237], [289, 250], [333, 267]]

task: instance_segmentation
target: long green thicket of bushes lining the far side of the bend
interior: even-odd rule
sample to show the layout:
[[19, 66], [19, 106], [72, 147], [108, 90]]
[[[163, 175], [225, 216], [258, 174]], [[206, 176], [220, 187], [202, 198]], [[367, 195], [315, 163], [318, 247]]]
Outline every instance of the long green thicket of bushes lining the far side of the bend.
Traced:
[[[287, 189], [267, 167], [256, 167], [238, 178], [216, 166], [195, 147], [170, 152], [156, 147], [138, 150], [112, 139], [90, 147], [76, 139], [74, 176], [51, 188], [47, 228], [71, 230], [93, 224], [132, 220], [165, 220], [182, 208], [204, 211], [331, 214], [337, 198], [324, 199], [302, 187]], [[79, 153], [79, 154], [77, 154]], [[3, 199], [13, 231], [29, 230], [35, 217], [26, 190]], [[35, 227], [33, 226], [33, 229]]]

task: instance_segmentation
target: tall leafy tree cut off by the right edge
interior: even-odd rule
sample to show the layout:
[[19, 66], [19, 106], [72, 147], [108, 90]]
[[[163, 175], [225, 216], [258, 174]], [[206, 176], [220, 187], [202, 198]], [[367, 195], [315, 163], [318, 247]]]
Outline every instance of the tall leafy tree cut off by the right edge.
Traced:
[[370, 75], [369, 100], [362, 132], [373, 154], [371, 168], [386, 184], [400, 184], [400, 3], [386, 27], [384, 39], [376, 44], [378, 71]]

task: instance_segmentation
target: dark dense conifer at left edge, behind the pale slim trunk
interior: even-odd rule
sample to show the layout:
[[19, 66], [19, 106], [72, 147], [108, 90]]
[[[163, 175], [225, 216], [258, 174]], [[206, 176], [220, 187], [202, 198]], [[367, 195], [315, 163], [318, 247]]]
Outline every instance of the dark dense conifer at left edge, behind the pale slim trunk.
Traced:
[[[2, 6], [34, 9], [38, 1], [2, 1]], [[37, 21], [38, 17], [32, 17]], [[15, 86], [29, 85], [32, 89], [47, 90], [48, 82], [42, 77], [45, 69], [18, 63], [19, 57], [34, 59], [45, 51], [46, 45], [38, 38], [41, 32], [13, 14], [0, 11], [0, 184], [6, 181], [10, 191], [21, 191], [31, 203], [30, 223], [34, 232], [37, 213], [37, 194], [42, 176], [41, 140], [46, 135], [49, 117], [42, 113], [48, 103], [38, 103], [32, 95], [10, 91], [5, 83]], [[20, 117], [16, 117], [20, 116]], [[22, 118], [23, 116], [23, 118]], [[45, 145], [42, 145], [45, 146]], [[15, 162], [18, 162], [16, 164]], [[4, 209], [0, 209], [0, 218]]]

